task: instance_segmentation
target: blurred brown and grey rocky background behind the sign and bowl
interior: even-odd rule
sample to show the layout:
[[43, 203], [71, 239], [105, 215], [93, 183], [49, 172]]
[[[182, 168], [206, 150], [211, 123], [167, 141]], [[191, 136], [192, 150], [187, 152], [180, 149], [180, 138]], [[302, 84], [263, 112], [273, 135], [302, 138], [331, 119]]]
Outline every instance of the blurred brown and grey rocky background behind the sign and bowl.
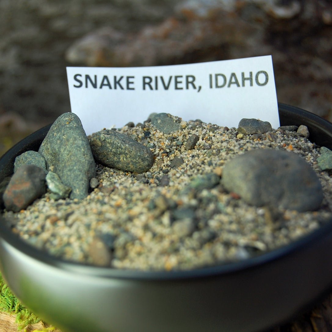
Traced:
[[331, 0], [0, 0], [0, 154], [70, 111], [66, 66], [272, 54], [278, 101], [332, 120]]

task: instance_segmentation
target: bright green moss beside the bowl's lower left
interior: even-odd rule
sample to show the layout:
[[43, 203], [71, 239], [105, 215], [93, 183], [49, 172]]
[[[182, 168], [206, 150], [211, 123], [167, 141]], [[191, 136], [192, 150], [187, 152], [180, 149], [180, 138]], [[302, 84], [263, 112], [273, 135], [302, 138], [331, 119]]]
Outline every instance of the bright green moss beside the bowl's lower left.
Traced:
[[21, 304], [21, 302], [16, 298], [16, 296], [5, 284], [1, 274], [0, 274], [0, 311], [16, 315], [15, 323], [18, 324], [19, 331], [25, 328], [29, 324], [35, 324], [40, 321], [40, 319], [36, 317], [34, 313], [25, 308]]

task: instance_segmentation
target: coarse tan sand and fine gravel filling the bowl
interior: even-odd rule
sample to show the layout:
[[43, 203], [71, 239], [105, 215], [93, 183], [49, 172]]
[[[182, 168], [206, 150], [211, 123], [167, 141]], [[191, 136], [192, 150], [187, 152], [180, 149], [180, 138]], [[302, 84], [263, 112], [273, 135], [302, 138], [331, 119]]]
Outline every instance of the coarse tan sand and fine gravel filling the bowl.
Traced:
[[[242, 135], [235, 128], [179, 122], [164, 134], [149, 122], [121, 132], [149, 147], [145, 173], [97, 164], [96, 188], [83, 200], [41, 199], [4, 216], [28, 243], [55, 256], [118, 269], [193, 269], [246, 259], [318, 228], [332, 216], [332, 180], [317, 165], [319, 147], [296, 131], [278, 128]], [[198, 136], [188, 149], [186, 142]], [[190, 138], [191, 137], [191, 138]], [[216, 182], [223, 165], [254, 148], [292, 151], [316, 171], [323, 190], [313, 212], [249, 206]]]

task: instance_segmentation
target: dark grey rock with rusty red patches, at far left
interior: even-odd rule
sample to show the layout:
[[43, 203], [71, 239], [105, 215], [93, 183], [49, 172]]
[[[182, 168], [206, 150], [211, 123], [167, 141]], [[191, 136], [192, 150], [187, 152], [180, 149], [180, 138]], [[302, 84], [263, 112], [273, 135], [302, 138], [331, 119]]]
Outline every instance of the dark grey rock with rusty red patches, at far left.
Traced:
[[23, 165], [10, 179], [3, 201], [7, 210], [19, 212], [45, 193], [45, 171], [36, 165]]

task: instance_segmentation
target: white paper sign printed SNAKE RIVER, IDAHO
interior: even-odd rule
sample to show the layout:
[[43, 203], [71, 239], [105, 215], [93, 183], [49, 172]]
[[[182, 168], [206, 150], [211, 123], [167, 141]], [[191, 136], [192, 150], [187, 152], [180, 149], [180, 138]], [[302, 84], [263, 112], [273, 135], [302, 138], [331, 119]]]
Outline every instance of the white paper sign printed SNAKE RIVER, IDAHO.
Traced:
[[155, 67], [67, 67], [71, 111], [87, 134], [151, 113], [237, 127], [279, 124], [272, 56]]

